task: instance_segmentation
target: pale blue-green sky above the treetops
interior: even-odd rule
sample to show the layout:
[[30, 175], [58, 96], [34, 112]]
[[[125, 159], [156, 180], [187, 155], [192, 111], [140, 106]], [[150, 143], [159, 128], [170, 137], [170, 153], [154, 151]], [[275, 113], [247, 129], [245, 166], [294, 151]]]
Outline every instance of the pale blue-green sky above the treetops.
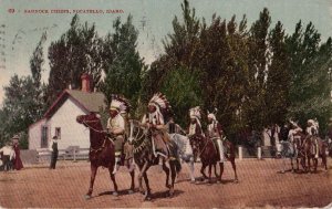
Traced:
[[[48, 81], [49, 62], [48, 48], [70, 28], [73, 13], [24, 13], [24, 10], [103, 10], [121, 9], [124, 13], [80, 14], [81, 22], [95, 23], [100, 35], [112, 30], [116, 17], [133, 15], [133, 21], [139, 31], [138, 51], [147, 64], [163, 53], [162, 40], [172, 33], [172, 21], [175, 15], [181, 17], [181, 0], [0, 0], [0, 104], [3, 102], [3, 86], [8, 85], [13, 74], [30, 74], [30, 56], [42, 33], [48, 31], [44, 44], [43, 81]], [[230, 20], [236, 14], [241, 20], [247, 14], [248, 27], [267, 7], [272, 17], [272, 25], [281, 21], [287, 33], [294, 31], [299, 20], [305, 25], [313, 22], [325, 41], [332, 36], [332, 1], [330, 0], [189, 0], [196, 9], [198, 18], [211, 20], [214, 13]], [[14, 12], [10, 13], [10, 9]], [[143, 27], [143, 22], [146, 24]]]

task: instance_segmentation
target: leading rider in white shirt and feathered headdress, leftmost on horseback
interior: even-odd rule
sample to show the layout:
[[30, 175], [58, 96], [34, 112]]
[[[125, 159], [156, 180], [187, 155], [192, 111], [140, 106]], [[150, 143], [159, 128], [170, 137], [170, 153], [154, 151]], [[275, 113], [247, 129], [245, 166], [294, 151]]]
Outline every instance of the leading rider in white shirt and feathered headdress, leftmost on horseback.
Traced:
[[110, 118], [107, 119], [107, 133], [114, 140], [115, 145], [115, 165], [113, 174], [117, 171], [121, 155], [123, 153], [123, 144], [125, 138], [125, 118], [124, 114], [129, 112], [129, 103], [120, 95], [112, 95], [110, 104]]

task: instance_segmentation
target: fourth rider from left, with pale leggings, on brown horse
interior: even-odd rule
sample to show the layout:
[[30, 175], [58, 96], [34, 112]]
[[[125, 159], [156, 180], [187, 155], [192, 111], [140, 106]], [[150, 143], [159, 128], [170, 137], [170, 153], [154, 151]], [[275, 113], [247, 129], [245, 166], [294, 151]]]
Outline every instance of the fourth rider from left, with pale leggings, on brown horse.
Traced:
[[219, 149], [220, 163], [225, 161], [225, 151], [222, 140], [225, 139], [224, 132], [221, 125], [216, 118], [214, 113], [208, 114], [208, 136], [210, 139], [217, 144], [217, 148]]

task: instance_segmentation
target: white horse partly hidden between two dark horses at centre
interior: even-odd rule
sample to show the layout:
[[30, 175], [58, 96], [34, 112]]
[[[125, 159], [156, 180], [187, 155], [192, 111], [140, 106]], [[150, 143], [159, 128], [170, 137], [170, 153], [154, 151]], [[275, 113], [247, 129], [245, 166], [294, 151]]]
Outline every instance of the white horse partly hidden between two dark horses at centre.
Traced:
[[176, 144], [180, 159], [187, 163], [189, 167], [190, 181], [195, 182], [194, 151], [189, 138], [180, 134], [169, 134], [169, 138]]

